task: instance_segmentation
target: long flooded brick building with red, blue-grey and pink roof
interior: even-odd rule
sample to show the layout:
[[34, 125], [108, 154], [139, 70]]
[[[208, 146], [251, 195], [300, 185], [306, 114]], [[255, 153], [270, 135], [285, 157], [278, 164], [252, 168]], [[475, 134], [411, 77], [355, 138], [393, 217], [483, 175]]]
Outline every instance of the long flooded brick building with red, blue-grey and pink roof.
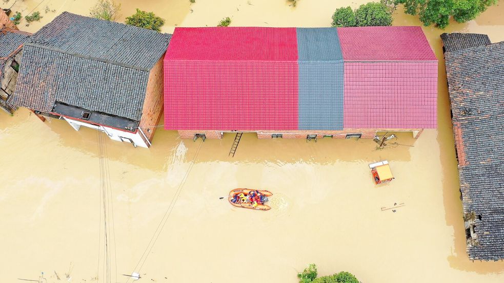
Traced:
[[373, 138], [437, 126], [437, 59], [420, 27], [175, 28], [165, 129], [182, 138]]

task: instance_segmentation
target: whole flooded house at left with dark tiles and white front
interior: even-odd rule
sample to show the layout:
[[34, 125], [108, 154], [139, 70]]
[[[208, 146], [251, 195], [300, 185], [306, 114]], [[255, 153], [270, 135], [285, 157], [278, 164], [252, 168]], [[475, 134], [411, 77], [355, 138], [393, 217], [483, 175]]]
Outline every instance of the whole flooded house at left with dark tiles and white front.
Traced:
[[30, 36], [9, 102], [149, 147], [171, 35], [64, 12]]

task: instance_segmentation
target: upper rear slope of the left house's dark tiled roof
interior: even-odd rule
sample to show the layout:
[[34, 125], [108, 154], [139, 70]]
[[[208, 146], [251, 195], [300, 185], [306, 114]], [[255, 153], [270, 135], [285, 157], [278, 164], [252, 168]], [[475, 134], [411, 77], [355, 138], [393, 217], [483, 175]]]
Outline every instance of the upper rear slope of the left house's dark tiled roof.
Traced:
[[33, 45], [151, 69], [166, 51], [169, 34], [64, 12], [34, 33]]

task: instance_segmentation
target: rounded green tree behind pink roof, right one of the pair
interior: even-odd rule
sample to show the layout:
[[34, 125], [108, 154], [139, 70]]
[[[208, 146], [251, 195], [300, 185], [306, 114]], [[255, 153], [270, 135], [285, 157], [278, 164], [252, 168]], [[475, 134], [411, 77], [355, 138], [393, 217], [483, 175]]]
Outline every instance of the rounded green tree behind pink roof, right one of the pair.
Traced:
[[389, 8], [384, 4], [376, 2], [360, 5], [355, 10], [355, 18], [358, 27], [392, 25], [392, 14]]

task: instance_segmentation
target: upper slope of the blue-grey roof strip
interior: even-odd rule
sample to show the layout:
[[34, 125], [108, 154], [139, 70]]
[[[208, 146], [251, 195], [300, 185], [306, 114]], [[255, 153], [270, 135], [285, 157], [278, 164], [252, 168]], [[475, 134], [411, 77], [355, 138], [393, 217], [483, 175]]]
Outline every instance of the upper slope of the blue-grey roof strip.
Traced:
[[341, 61], [338, 31], [335, 28], [297, 28], [299, 61]]

